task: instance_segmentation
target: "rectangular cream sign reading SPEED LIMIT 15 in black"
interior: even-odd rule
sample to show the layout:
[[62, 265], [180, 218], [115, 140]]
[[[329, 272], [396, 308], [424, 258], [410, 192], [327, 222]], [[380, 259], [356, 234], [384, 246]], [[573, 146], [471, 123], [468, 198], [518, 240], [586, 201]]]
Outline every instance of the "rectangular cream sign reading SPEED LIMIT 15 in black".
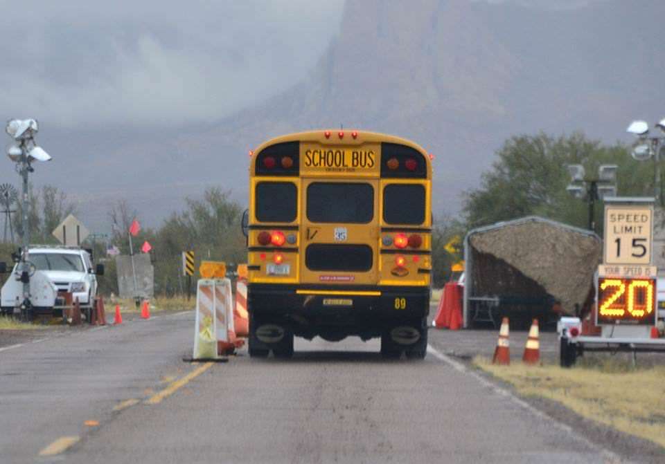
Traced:
[[650, 264], [653, 202], [626, 198], [605, 203], [604, 264]]

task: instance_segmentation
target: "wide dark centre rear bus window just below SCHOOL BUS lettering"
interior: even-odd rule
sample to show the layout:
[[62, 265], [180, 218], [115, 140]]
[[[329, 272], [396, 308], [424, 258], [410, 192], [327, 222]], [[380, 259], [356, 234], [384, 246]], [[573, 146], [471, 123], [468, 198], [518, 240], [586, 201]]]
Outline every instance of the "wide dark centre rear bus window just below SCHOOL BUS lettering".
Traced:
[[374, 217], [374, 188], [364, 183], [311, 183], [307, 217], [314, 223], [369, 223]]

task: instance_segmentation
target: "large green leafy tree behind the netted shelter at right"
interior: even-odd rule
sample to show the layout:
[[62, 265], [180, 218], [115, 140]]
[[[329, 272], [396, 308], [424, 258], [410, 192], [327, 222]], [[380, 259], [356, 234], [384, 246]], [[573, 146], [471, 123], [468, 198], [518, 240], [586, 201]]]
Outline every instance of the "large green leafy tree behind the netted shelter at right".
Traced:
[[[492, 168], [481, 176], [481, 186], [464, 194], [463, 214], [469, 229], [529, 215], [586, 228], [587, 202], [566, 191], [570, 164], [583, 165], [587, 176], [596, 175], [601, 164], [616, 164], [619, 195], [653, 192], [650, 163], [633, 160], [624, 145], [605, 146], [583, 133], [558, 138], [544, 133], [515, 136], [496, 155]], [[596, 205], [596, 223], [601, 224], [602, 208]], [[596, 232], [601, 233], [601, 228]]]

